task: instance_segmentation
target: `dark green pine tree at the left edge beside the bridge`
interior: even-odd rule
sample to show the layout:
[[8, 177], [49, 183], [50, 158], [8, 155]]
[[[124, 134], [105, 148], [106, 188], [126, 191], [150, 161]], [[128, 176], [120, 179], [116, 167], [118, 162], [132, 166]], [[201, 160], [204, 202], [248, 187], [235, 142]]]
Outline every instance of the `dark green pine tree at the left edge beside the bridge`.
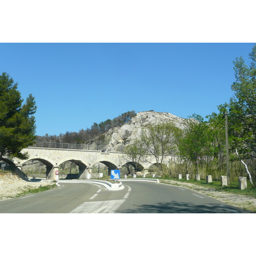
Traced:
[[0, 160], [3, 155], [27, 159], [23, 148], [35, 141], [35, 98], [32, 94], [22, 105], [17, 84], [7, 73], [0, 75]]

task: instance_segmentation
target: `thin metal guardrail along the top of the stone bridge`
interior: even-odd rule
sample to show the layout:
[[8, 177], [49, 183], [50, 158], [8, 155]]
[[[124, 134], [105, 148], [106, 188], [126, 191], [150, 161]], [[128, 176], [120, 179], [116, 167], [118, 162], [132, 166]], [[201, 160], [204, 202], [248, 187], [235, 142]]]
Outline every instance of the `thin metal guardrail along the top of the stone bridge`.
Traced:
[[[59, 148], [59, 149], [76, 149], [76, 150], [98, 150], [105, 152], [109, 146], [107, 145], [85, 145], [85, 144], [70, 144], [70, 143], [55, 143], [55, 142], [40, 142], [36, 141], [29, 148]], [[123, 148], [118, 151], [121, 152]], [[113, 150], [116, 151], [116, 150]]]

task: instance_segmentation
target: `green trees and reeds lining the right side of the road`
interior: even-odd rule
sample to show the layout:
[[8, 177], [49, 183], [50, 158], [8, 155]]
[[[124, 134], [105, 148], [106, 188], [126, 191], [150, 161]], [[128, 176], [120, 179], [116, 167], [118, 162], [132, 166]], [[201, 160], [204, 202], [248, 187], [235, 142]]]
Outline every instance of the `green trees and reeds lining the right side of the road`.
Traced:
[[[143, 130], [136, 143], [125, 148], [127, 159], [139, 159], [141, 152], [154, 156], [154, 172], [161, 177], [189, 174], [220, 181], [227, 176], [232, 186], [239, 177], [247, 177], [247, 186], [256, 184], [256, 44], [249, 54], [250, 66], [243, 58], [236, 58], [236, 81], [229, 102], [218, 106], [205, 120], [198, 114], [186, 119], [181, 130], [172, 123], [154, 125]], [[137, 150], [137, 145], [145, 151]], [[131, 152], [131, 148], [135, 148]], [[133, 157], [131, 157], [133, 155]], [[142, 155], [143, 156], [143, 155]], [[163, 160], [172, 156], [169, 166]], [[229, 171], [228, 171], [229, 170]], [[135, 170], [136, 171], [136, 170]]]

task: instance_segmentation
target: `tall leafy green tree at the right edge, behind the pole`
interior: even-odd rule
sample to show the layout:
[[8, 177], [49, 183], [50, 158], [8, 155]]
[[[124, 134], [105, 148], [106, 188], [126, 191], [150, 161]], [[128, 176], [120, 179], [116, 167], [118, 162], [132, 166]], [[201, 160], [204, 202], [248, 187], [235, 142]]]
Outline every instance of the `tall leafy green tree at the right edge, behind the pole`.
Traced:
[[[230, 99], [228, 115], [229, 136], [233, 151], [246, 159], [256, 154], [256, 44], [249, 54], [248, 67], [243, 58], [236, 58], [236, 81], [232, 85], [234, 97]], [[253, 154], [252, 154], [253, 153]]]

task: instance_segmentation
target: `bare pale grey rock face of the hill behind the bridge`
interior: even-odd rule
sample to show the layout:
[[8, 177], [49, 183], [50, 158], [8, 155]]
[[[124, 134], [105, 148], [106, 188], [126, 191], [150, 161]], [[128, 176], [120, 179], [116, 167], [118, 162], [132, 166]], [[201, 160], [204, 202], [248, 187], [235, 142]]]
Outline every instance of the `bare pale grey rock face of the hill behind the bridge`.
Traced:
[[110, 137], [108, 150], [121, 150], [125, 145], [132, 143], [133, 140], [140, 137], [142, 129], [147, 128], [149, 125], [174, 122], [178, 128], [184, 129], [185, 120], [171, 113], [139, 112], [128, 123], [108, 131], [107, 137]]

